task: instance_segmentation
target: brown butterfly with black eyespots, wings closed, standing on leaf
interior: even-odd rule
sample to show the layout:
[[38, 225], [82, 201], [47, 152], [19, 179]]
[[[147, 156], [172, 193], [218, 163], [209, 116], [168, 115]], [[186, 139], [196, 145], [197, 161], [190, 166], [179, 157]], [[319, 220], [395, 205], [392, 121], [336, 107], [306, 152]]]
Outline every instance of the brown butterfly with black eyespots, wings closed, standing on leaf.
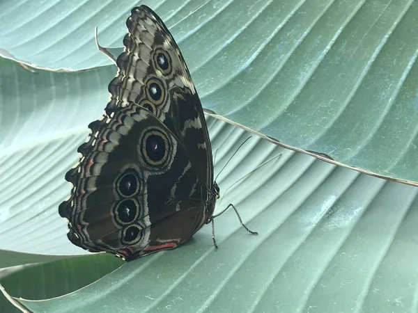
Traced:
[[109, 103], [65, 175], [72, 190], [59, 214], [72, 243], [129, 261], [176, 248], [206, 223], [213, 230], [219, 188], [201, 102], [171, 33], [147, 6], [126, 24]]

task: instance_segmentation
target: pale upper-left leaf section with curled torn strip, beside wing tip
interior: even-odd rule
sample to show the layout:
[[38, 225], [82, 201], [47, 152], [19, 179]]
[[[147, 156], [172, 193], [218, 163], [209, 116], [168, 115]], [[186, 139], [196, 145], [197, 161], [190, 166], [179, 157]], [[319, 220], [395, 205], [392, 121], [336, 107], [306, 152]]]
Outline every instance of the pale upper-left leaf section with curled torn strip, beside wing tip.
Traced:
[[[143, 1], [158, 6], [162, 1]], [[177, 1], [178, 2], [178, 1]], [[121, 46], [125, 20], [137, 1], [1, 1], [0, 56], [38, 68], [80, 70], [109, 65], [95, 46]]]

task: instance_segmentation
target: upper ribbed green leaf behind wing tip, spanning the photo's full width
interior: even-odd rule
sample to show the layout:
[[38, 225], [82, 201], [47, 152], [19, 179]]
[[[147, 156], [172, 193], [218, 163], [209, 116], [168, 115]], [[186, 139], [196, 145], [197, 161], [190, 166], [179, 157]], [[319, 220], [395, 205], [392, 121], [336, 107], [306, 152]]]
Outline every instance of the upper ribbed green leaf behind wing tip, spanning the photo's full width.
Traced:
[[[206, 109], [286, 147], [418, 184], [417, 1], [141, 3], [169, 26]], [[3, 1], [1, 55], [111, 66], [93, 28], [102, 45], [120, 47], [136, 4]]]

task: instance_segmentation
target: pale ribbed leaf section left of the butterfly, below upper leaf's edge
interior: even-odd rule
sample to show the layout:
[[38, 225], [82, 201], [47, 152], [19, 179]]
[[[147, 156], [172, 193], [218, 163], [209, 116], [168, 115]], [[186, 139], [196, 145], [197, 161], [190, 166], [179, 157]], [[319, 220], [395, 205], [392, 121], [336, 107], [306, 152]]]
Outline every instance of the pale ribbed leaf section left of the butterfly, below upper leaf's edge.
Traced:
[[0, 249], [84, 252], [62, 244], [65, 221], [57, 207], [69, 193], [65, 172], [77, 161], [88, 120], [101, 115], [113, 76], [107, 67], [31, 74], [0, 59]]

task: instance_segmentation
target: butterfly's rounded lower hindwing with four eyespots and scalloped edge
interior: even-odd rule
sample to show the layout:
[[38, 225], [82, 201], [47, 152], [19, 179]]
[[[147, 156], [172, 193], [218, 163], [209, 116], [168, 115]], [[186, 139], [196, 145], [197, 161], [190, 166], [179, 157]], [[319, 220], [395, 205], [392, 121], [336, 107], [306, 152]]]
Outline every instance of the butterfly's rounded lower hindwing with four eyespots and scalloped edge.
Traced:
[[[155, 236], [153, 223], [164, 223], [182, 206], [182, 215], [200, 214], [193, 208], [200, 205], [201, 188], [183, 146], [146, 109], [130, 115], [127, 110], [103, 119], [106, 127], [93, 122], [91, 136], [79, 147], [83, 157], [66, 175], [75, 187], [59, 213], [72, 226], [68, 237], [82, 248], [141, 252], [173, 237]], [[186, 219], [181, 226], [187, 235], [194, 223]], [[176, 245], [182, 241], [174, 239]]]

